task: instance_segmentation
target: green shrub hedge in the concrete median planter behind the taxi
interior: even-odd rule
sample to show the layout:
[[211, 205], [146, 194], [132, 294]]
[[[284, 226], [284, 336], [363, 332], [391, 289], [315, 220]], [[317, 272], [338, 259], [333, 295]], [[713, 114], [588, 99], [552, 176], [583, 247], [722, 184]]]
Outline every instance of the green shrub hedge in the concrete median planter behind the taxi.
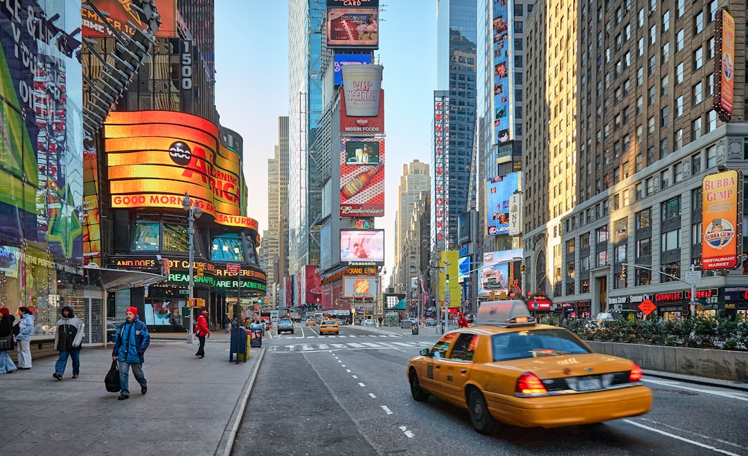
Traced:
[[584, 340], [624, 342], [628, 344], [669, 345], [672, 347], [748, 350], [748, 321], [736, 318], [708, 317], [660, 320], [605, 321], [572, 318], [560, 322], [555, 316], [541, 319], [543, 324], [566, 327]]

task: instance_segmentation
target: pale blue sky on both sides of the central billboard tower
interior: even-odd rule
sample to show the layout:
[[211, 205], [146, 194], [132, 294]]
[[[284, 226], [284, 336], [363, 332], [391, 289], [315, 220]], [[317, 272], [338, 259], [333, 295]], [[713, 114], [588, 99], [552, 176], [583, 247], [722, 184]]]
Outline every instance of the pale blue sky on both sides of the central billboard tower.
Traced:
[[[429, 162], [431, 99], [436, 87], [436, 1], [380, 0], [384, 65], [385, 266], [394, 261], [394, 223], [402, 164]], [[267, 162], [278, 144], [278, 116], [288, 115], [288, 1], [215, 2], [215, 104], [221, 125], [244, 138], [248, 216], [267, 229]], [[385, 283], [386, 285], [386, 283]]]

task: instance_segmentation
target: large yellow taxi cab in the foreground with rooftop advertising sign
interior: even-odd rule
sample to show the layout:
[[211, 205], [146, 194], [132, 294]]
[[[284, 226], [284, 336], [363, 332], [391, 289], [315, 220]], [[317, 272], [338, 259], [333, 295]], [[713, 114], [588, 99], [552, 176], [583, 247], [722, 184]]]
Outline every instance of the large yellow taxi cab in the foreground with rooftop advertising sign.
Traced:
[[524, 301], [481, 304], [473, 326], [450, 331], [408, 361], [411, 395], [468, 409], [473, 428], [494, 421], [556, 428], [637, 416], [652, 390], [630, 360], [598, 354], [571, 331], [536, 324]]

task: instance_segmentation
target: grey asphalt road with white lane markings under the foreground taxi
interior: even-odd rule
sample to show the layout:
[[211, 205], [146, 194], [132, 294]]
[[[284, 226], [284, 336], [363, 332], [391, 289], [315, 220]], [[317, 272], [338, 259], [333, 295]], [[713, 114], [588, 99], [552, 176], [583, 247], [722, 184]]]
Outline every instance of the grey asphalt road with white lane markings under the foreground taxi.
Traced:
[[748, 455], [748, 393], [658, 378], [643, 416], [601, 425], [473, 431], [465, 410], [416, 402], [409, 357], [431, 346], [376, 328], [316, 327], [266, 339], [234, 455]]

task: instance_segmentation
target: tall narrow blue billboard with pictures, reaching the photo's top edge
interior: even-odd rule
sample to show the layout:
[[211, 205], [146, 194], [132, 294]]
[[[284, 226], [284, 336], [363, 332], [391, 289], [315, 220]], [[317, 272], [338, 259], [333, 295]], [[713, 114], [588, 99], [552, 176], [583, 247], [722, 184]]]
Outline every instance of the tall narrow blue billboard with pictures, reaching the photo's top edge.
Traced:
[[494, 1], [493, 67], [494, 67], [494, 138], [493, 144], [509, 141], [511, 135], [509, 101], [509, 7], [506, 1]]

